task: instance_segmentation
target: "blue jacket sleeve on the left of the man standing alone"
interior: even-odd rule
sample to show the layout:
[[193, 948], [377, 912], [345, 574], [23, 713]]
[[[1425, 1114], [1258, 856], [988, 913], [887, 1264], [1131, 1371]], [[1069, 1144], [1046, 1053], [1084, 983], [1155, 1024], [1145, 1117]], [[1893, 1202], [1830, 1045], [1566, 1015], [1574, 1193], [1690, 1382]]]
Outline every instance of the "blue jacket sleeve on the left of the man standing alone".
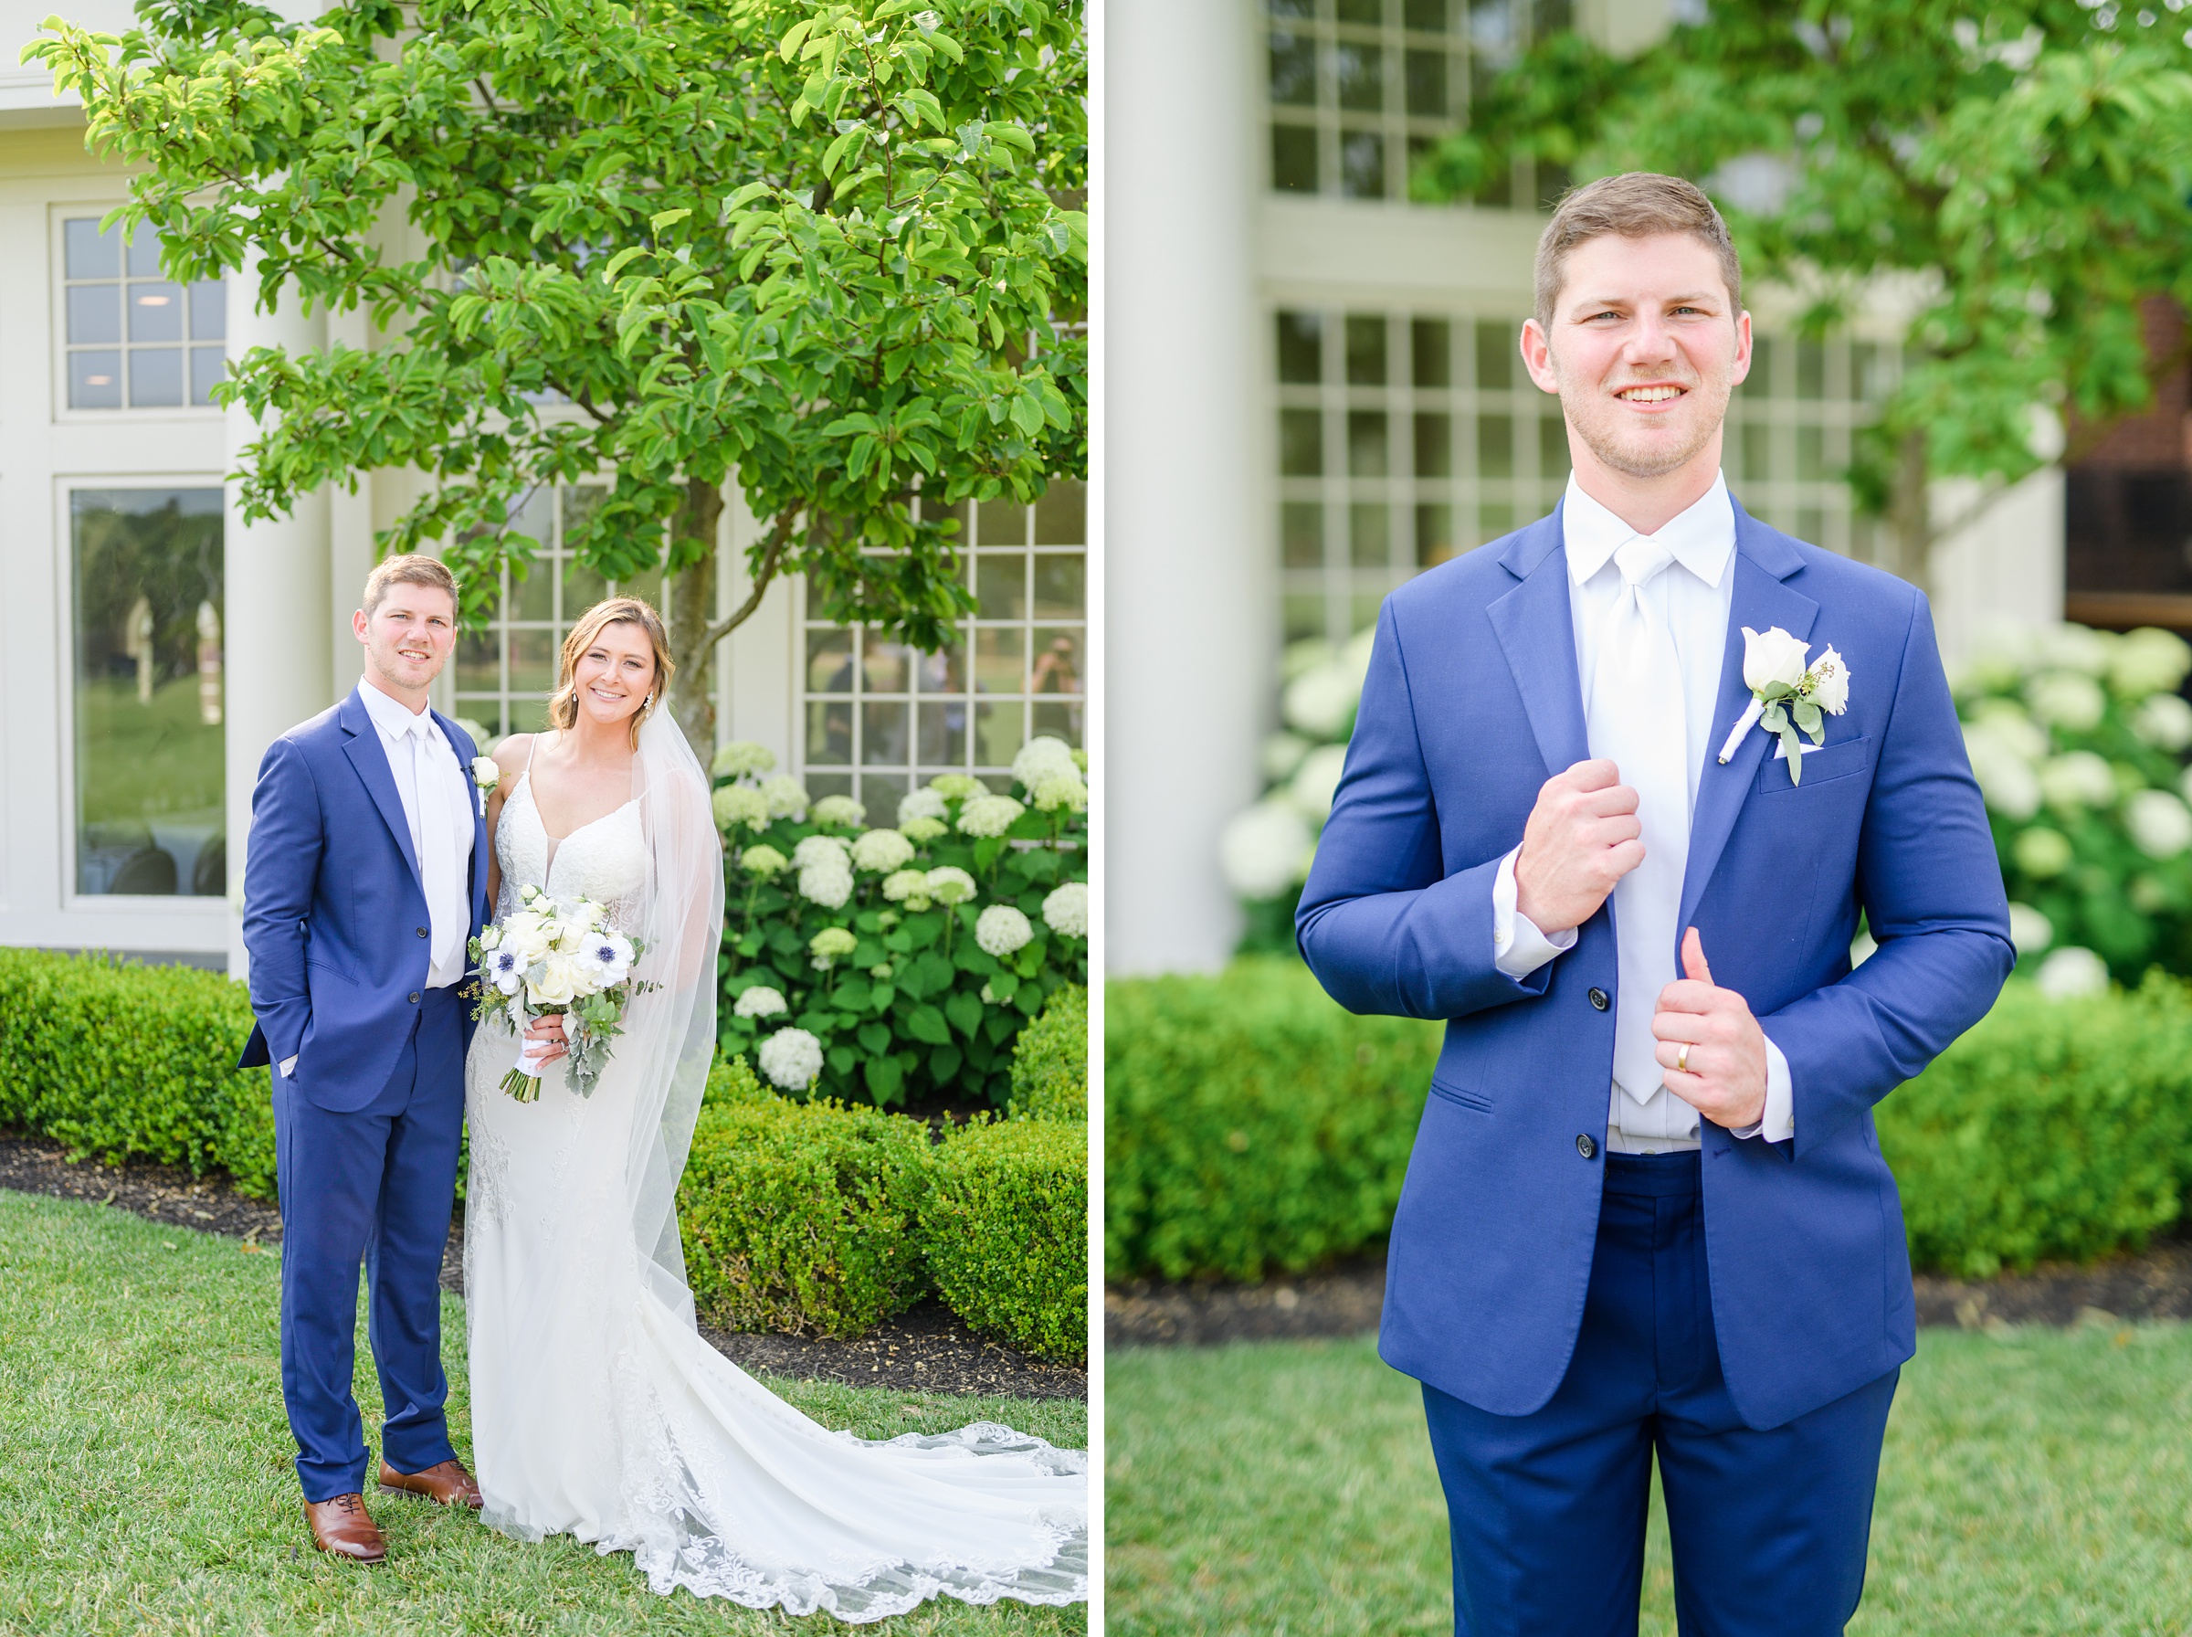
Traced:
[[1302, 960], [1350, 1012], [1449, 1019], [1543, 995], [1552, 964], [1526, 977], [1499, 969], [1497, 877], [1499, 857], [1445, 874], [1438, 806], [1388, 600], [1346, 771], [1293, 920]]

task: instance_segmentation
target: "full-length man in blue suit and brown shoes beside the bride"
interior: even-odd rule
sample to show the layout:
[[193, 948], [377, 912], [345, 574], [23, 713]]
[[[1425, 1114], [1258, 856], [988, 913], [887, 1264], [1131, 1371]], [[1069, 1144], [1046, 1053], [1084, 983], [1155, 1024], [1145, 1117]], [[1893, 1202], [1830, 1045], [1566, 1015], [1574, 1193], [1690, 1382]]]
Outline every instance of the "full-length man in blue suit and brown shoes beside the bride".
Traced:
[[359, 1262], [386, 1405], [379, 1486], [480, 1503], [443, 1416], [441, 1256], [487, 828], [473, 743], [425, 701], [456, 644], [449, 570], [388, 559], [353, 629], [364, 679], [276, 739], [252, 789], [243, 947], [259, 1026], [241, 1067], [274, 1067], [281, 1378], [311, 1543], [379, 1562], [351, 1396]]

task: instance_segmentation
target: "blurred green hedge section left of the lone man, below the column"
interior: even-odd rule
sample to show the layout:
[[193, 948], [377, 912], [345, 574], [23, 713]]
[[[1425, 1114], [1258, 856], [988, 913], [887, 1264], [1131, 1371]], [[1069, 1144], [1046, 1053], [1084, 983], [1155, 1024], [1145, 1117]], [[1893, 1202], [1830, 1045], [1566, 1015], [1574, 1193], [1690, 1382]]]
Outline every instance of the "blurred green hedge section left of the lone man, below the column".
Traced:
[[1105, 988], [1105, 1271], [1300, 1271], [1385, 1234], [1440, 1028], [1291, 958]]

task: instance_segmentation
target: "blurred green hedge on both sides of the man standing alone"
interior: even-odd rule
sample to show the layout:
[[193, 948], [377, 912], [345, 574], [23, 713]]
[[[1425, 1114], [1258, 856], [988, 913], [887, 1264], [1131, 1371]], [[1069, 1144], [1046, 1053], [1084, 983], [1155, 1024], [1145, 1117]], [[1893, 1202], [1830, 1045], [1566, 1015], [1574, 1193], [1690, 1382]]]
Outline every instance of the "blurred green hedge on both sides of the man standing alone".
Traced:
[[[1911, 1262], [1968, 1278], [2139, 1249], [2192, 1197], [2192, 988], [1995, 1010], [1876, 1111]], [[1438, 1028], [1350, 1017], [1300, 962], [1114, 982], [1107, 1278], [1300, 1271], [1388, 1232]]]

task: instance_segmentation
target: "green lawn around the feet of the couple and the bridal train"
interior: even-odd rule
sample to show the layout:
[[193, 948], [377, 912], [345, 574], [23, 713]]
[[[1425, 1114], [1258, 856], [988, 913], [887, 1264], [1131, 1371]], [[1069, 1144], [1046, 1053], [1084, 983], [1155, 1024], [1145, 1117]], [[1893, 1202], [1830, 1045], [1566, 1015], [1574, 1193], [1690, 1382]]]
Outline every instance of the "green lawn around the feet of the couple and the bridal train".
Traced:
[[[761, 1633], [829, 1617], [655, 1598], [629, 1556], [520, 1545], [467, 1514], [368, 1497], [388, 1562], [305, 1543], [281, 1409], [278, 1262], [99, 1205], [0, 1192], [0, 1633]], [[452, 1429], [469, 1444], [465, 1317], [443, 1310]], [[868, 1438], [1004, 1420], [1087, 1446], [1074, 1400], [774, 1381]], [[359, 1335], [366, 1442], [379, 1389]], [[932, 1602], [912, 1637], [1085, 1633], [1087, 1609]]]

